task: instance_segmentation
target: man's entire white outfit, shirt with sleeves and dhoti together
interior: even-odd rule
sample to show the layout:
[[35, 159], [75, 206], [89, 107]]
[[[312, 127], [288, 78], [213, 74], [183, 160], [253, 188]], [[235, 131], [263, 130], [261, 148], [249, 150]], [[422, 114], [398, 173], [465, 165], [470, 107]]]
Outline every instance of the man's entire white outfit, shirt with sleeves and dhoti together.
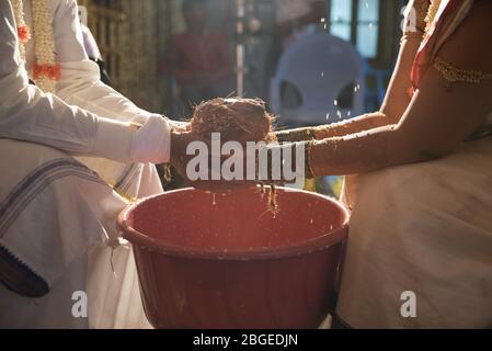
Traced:
[[[114, 250], [112, 270], [106, 244], [117, 237], [115, 217], [127, 203], [104, 181], [131, 196], [161, 192], [146, 162], [169, 160], [169, 121], [100, 82], [75, 0], [49, 7], [61, 66], [57, 95], [28, 86], [34, 47], [26, 45], [26, 70], [10, 1], [0, 0], [0, 248], [49, 286], [44, 297], [27, 298], [0, 284], [0, 327], [149, 327], [128, 245]], [[77, 291], [88, 294], [89, 318], [72, 315]]]

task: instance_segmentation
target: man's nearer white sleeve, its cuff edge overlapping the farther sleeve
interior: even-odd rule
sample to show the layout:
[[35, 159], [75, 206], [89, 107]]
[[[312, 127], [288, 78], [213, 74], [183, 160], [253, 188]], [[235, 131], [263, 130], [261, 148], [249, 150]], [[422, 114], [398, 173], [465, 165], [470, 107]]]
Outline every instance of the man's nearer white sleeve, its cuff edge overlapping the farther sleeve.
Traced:
[[130, 158], [136, 131], [100, 118], [30, 86], [21, 64], [16, 25], [8, 0], [0, 0], [0, 137], [115, 160]]

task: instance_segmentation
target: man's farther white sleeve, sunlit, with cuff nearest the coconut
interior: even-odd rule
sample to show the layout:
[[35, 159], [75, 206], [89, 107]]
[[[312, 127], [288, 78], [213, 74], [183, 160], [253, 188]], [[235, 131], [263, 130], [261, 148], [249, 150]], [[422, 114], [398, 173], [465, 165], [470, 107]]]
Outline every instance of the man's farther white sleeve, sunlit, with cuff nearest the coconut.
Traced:
[[[147, 141], [136, 143], [135, 154], [142, 155], [150, 151], [153, 155], [161, 155], [159, 161], [168, 161], [170, 151], [168, 122], [160, 121], [162, 117], [159, 114], [139, 109], [127, 98], [101, 82], [99, 67], [89, 60], [83, 47], [76, 0], [57, 1], [54, 13], [54, 36], [57, 60], [61, 66], [61, 80], [57, 86], [57, 94], [66, 102], [100, 116], [123, 122], [151, 123], [152, 128], [142, 128], [140, 132], [141, 138]], [[151, 133], [150, 129], [152, 129]], [[140, 138], [137, 137], [138, 139]], [[147, 155], [146, 159], [156, 160], [155, 156], [150, 155]]]

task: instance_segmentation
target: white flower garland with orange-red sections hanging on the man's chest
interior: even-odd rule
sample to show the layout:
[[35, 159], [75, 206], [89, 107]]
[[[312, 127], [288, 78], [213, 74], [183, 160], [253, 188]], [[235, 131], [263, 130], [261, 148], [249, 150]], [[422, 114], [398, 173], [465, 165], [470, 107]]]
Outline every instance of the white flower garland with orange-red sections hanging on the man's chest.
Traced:
[[[25, 43], [31, 38], [31, 30], [24, 21], [23, 0], [11, 0], [18, 23], [19, 49], [25, 63]], [[55, 58], [55, 39], [53, 35], [53, 19], [48, 0], [32, 0], [34, 54], [36, 64], [33, 68], [33, 79], [36, 86], [45, 92], [54, 93], [56, 82], [60, 79], [61, 69]]]

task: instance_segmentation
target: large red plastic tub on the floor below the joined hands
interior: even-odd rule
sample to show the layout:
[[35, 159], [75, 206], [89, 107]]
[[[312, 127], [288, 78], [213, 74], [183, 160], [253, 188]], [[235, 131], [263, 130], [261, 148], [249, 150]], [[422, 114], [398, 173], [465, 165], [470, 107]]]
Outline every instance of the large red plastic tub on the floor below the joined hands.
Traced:
[[126, 208], [149, 321], [157, 328], [317, 328], [328, 312], [348, 213], [329, 197], [278, 189], [185, 189]]

